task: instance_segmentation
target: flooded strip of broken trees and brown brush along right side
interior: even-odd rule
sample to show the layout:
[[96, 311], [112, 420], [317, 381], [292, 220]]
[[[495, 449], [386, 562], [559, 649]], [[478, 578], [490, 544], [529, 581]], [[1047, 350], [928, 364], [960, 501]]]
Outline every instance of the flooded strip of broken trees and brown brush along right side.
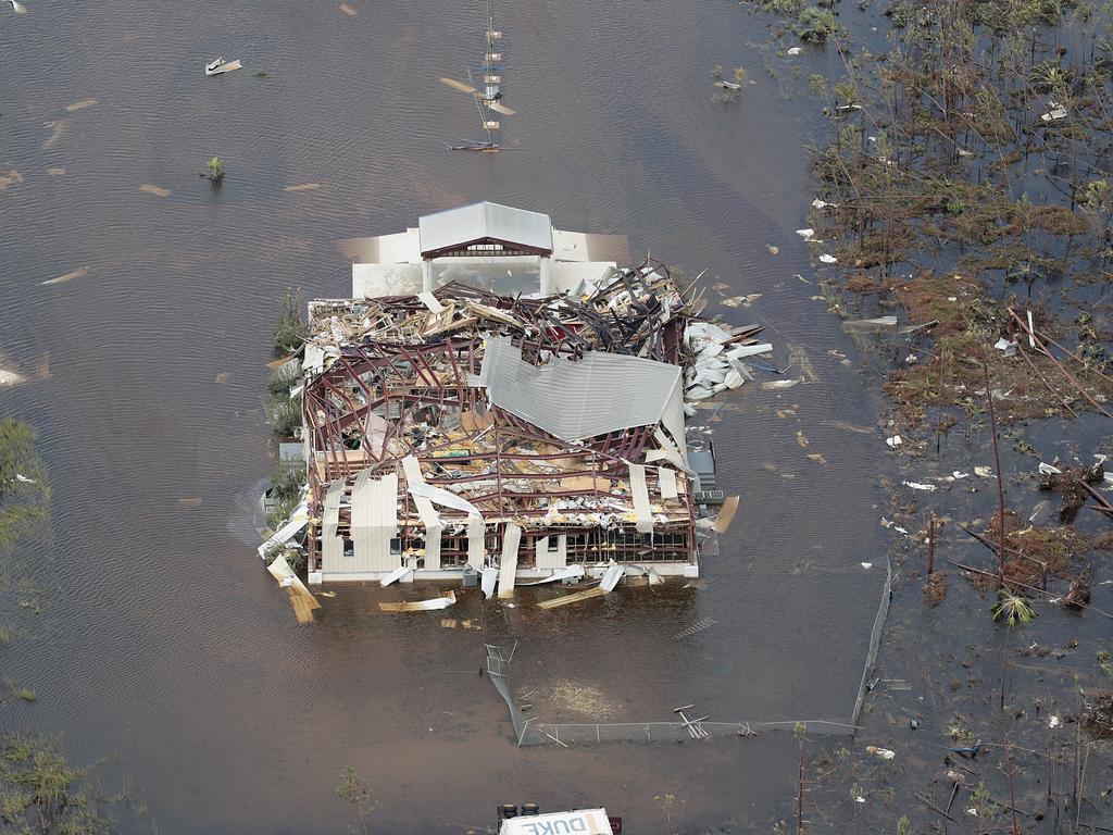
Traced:
[[1113, 815], [1113, 4], [755, 4], [839, 67], [801, 73], [826, 297], [897, 320], [863, 341], [905, 477], [870, 744], [801, 769], [796, 831], [1089, 832]]

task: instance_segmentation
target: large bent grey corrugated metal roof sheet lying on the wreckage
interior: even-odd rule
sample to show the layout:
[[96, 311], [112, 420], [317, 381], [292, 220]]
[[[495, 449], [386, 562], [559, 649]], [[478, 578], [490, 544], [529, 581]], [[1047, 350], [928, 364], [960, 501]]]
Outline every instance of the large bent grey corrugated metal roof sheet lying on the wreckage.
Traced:
[[564, 441], [594, 438], [661, 421], [680, 403], [677, 365], [627, 354], [590, 351], [581, 360], [522, 360], [510, 337], [490, 337], [480, 382], [491, 404]]

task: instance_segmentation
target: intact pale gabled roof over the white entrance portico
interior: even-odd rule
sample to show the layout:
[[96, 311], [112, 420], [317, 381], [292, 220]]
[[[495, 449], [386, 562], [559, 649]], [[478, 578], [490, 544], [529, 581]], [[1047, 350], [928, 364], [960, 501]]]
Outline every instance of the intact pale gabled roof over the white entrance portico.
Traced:
[[534, 255], [553, 250], [549, 215], [486, 200], [424, 215], [417, 225], [423, 258], [450, 255], [480, 243], [502, 244]]

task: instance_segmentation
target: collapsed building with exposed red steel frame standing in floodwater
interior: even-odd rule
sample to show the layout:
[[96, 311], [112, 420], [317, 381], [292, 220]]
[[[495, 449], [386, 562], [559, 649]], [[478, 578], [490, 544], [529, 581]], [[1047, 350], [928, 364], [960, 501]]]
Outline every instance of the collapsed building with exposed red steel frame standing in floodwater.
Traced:
[[[591, 238], [475, 204], [371, 239], [353, 298], [309, 303], [311, 583], [698, 576], [699, 509], [721, 493], [686, 413], [742, 384], [760, 328], [698, 321], [662, 263], [594, 261]], [[515, 269], [532, 292], [501, 286]]]

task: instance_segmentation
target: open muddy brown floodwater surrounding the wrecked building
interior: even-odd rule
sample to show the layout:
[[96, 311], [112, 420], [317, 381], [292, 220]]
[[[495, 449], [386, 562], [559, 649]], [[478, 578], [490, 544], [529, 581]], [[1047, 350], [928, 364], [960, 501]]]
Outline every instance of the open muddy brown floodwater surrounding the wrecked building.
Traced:
[[[660, 793], [688, 829], [766, 821], [794, 790], [790, 738], [519, 750], [475, 672], [484, 638], [518, 640], [545, 720], [849, 715], [881, 581], [881, 442], [848, 429], [874, 428], [869, 382], [792, 232], [820, 127], [794, 77], [828, 58], [778, 58], [731, 3], [499, 3], [515, 149], [452, 154], [475, 112], [435, 79], [475, 66], [482, 4], [347, 4], [0, 16], [0, 170], [21, 175], [0, 193], [0, 356], [32, 379], [0, 407], [38, 426], [53, 480], [50, 541], [22, 554], [43, 612], [0, 657], [39, 700], [0, 706], [3, 725], [109, 755], [165, 833], [336, 832], [345, 765], [386, 832], [486, 824], [508, 799], [604, 803], [644, 832]], [[217, 55], [247, 69], [205, 78]], [[716, 63], [748, 68], [740, 102], [711, 101]], [[216, 194], [198, 177], [215, 154]], [[243, 510], [270, 466], [276, 298], [345, 295], [338, 239], [482, 198], [707, 269], [712, 299], [760, 293], [709, 313], [768, 323], [778, 364], [811, 382], [705, 415], [742, 510], [701, 589], [545, 617], [469, 595], [452, 616], [477, 630], [381, 616], [348, 586], [297, 628]]]

